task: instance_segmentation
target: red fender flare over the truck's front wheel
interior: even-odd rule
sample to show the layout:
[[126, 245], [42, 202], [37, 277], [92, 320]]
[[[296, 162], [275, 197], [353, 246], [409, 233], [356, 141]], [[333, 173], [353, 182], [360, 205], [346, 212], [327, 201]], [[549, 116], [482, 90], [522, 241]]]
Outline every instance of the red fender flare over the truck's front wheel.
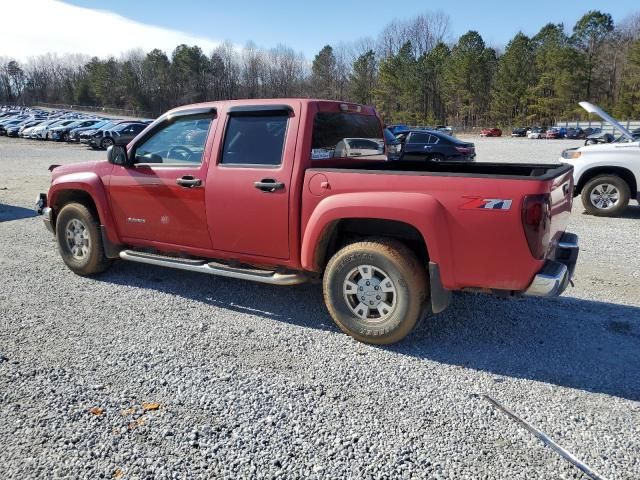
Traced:
[[49, 206], [54, 210], [59, 209], [60, 206], [57, 204], [61, 194], [70, 190], [83, 192], [91, 197], [96, 206], [100, 224], [105, 227], [107, 238], [114, 243], [120, 243], [115, 224], [111, 218], [106, 189], [100, 176], [94, 172], [75, 172], [54, 178], [47, 195]]

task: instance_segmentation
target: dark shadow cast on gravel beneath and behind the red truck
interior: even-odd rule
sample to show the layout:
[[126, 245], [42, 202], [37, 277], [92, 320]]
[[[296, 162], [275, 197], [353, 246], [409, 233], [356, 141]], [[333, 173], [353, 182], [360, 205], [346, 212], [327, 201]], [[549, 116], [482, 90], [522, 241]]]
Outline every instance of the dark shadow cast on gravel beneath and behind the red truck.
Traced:
[[[326, 312], [319, 285], [273, 287], [126, 262], [99, 280], [341, 334]], [[456, 294], [449, 309], [426, 318], [403, 342], [379, 348], [497, 376], [640, 400], [638, 307], [571, 297], [514, 300]]]

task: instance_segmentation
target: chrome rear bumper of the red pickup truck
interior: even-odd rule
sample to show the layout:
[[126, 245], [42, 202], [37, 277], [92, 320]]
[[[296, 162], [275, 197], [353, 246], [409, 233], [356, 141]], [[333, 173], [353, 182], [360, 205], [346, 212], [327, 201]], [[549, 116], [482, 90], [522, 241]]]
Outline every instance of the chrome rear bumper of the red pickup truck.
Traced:
[[562, 294], [571, 282], [579, 251], [578, 236], [565, 232], [553, 258], [544, 263], [524, 294], [532, 297], [556, 297]]

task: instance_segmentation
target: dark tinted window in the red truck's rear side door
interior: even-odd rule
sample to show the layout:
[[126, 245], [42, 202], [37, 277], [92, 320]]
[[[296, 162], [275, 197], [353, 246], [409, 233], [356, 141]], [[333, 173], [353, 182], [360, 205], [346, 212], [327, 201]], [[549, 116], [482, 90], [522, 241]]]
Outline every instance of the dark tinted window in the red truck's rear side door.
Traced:
[[280, 165], [287, 115], [230, 116], [224, 136], [224, 165]]

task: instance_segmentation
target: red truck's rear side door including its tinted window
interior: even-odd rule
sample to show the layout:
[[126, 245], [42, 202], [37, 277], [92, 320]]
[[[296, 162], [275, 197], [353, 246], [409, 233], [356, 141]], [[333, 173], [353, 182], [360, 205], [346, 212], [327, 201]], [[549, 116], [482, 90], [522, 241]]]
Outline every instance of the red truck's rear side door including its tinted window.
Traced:
[[[240, 116], [227, 115], [225, 133], [214, 146], [219, 158], [210, 160], [206, 192], [215, 250], [289, 258], [289, 201], [299, 103], [288, 107], [286, 111], [252, 113], [247, 106]], [[282, 186], [257, 188], [255, 183], [263, 181]]]

